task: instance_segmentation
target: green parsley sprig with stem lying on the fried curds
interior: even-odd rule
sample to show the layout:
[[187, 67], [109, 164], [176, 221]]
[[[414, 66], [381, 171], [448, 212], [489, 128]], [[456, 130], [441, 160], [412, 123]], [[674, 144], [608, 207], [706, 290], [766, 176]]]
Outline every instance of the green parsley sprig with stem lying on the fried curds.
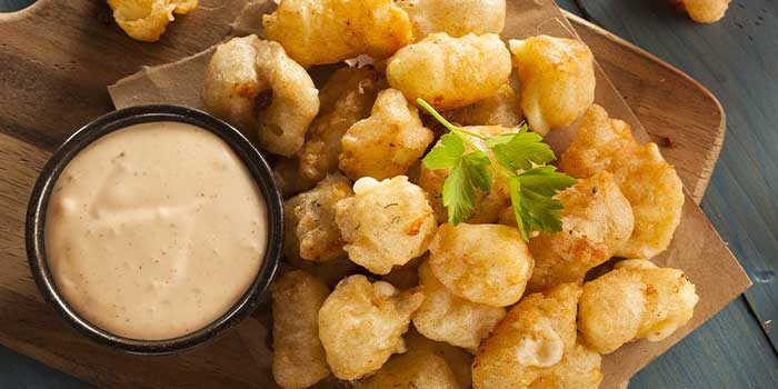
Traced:
[[[486, 137], [451, 124], [423, 99], [416, 102], [449, 130], [422, 163], [430, 170], [450, 169], [443, 182], [442, 200], [451, 223], [456, 226], [470, 216], [476, 208], [476, 190], [488, 193], [497, 173], [508, 182], [516, 222], [525, 240], [529, 240], [533, 230], [561, 230], [559, 210], [563, 206], [553, 196], [576, 180], [547, 164], [556, 157], [539, 134], [529, 132], [527, 124], [522, 124], [516, 133]], [[496, 164], [471, 138], [483, 141]]]

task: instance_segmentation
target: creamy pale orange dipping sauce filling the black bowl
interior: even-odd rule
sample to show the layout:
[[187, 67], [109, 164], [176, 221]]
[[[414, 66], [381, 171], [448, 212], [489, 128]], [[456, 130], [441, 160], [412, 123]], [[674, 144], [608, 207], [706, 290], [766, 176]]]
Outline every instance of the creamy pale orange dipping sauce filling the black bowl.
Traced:
[[59, 177], [46, 252], [86, 320], [142, 340], [213, 322], [247, 291], [267, 246], [265, 200], [218, 136], [134, 124], [77, 154]]

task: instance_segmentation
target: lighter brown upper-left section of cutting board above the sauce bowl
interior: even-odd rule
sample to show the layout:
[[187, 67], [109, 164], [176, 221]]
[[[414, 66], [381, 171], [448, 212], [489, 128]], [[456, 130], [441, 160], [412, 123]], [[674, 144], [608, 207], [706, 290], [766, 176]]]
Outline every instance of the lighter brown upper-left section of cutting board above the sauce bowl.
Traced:
[[[220, 41], [237, 17], [235, 7], [227, 6], [245, 2], [201, 0], [197, 12], [176, 17], [156, 43], [129, 39], [104, 1], [39, 1], [20, 12], [0, 13], [0, 88], [7, 91], [0, 93], [1, 131], [54, 148], [78, 127], [112, 110], [106, 86], [143, 66], [170, 62]], [[66, 103], [69, 109], [61, 110]]]

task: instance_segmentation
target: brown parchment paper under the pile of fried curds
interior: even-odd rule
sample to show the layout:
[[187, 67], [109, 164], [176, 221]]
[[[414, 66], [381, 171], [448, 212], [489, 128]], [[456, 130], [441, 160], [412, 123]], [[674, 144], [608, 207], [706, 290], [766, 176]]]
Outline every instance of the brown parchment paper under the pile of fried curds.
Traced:
[[[249, 3], [232, 24], [233, 34], [261, 36], [260, 16], [271, 12], [275, 7], [271, 0]], [[508, 0], [503, 39], [521, 39], [539, 33], [577, 38], [575, 30], [553, 1]], [[120, 109], [136, 104], [171, 103], [202, 108], [199, 98], [200, 88], [210, 54], [211, 50], [176, 63], [147, 68], [118, 81], [108, 88], [114, 106]], [[630, 123], [638, 140], [649, 139], [638, 119], [599, 68], [597, 69], [596, 102], [605, 107], [611, 117]], [[555, 151], [560, 152], [569, 144], [573, 133], [575, 126], [571, 126], [568, 129], [552, 131], [547, 141], [551, 143]], [[626, 387], [635, 372], [702, 325], [750, 286], [748, 277], [737, 260], [688, 194], [681, 223], [670, 248], [654, 261], [660, 266], [684, 269], [697, 286], [700, 302], [695, 309], [695, 317], [687, 326], [660, 342], [640, 340], [604, 356], [602, 388]], [[262, 320], [265, 316], [262, 312], [256, 315], [256, 320], [250, 320], [250, 323], [241, 327], [239, 332], [247, 342], [256, 346], [251, 359], [258, 365], [257, 367], [269, 371], [270, 350], [265, 341], [267, 329], [261, 327], [267, 325]], [[249, 326], [253, 329], [248, 329]]]

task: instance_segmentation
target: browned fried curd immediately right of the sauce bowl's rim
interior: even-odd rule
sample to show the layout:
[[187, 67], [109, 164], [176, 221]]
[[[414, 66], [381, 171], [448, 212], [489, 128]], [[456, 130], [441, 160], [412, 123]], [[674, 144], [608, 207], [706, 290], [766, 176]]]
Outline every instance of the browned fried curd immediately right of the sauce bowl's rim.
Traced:
[[351, 182], [342, 174], [332, 174], [316, 188], [285, 201], [287, 258], [326, 262], [343, 256], [343, 240], [335, 222], [336, 203], [352, 194]]

